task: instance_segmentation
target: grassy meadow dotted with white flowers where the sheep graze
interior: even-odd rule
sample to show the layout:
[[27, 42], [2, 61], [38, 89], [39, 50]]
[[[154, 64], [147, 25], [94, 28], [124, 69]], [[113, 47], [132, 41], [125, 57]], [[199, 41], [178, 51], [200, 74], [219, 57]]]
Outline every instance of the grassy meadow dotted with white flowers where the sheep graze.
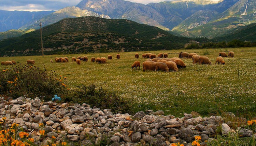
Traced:
[[[168, 57], [177, 57], [179, 52], [195, 52], [206, 55], [215, 63], [220, 49], [199, 50], [162, 50], [148, 51], [151, 53], [169, 53]], [[225, 50], [225, 49], [222, 49]], [[15, 60], [25, 64], [27, 59], [34, 59], [35, 65], [53, 70], [57, 74], [66, 76], [66, 85], [74, 89], [78, 85], [102, 86], [117, 95], [129, 99], [134, 106], [134, 112], [153, 109], [163, 110], [166, 114], [179, 116], [180, 113], [196, 111], [201, 115], [233, 112], [236, 115], [255, 115], [256, 111], [256, 48], [227, 49], [235, 53], [234, 58], [224, 58], [225, 65], [193, 65], [191, 59], [183, 59], [185, 69], [178, 72], [152, 72], [132, 70], [133, 61], [145, 60], [141, 56], [146, 52], [121, 52], [120, 59], [117, 53], [48, 55], [48, 56], [22, 56], [1, 57], [0, 61]], [[134, 57], [139, 53], [139, 59]], [[228, 53], [228, 52], [226, 52]], [[51, 63], [55, 57], [88, 56], [107, 57], [105, 64], [81, 62]], [[6, 66], [0, 66], [5, 69]], [[10, 67], [7, 67], [10, 68]], [[181, 92], [185, 91], [185, 94]], [[127, 103], [130, 104], [130, 103]]]

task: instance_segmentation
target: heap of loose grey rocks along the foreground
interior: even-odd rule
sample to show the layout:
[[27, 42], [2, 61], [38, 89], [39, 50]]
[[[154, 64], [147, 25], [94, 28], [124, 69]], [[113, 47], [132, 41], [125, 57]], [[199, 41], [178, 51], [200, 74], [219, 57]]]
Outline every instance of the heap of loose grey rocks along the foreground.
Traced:
[[[6, 117], [11, 125], [18, 123], [34, 138], [35, 144], [47, 145], [54, 135], [57, 141], [79, 141], [81, 145], [106, 142], [112, 146], [156, 145], [169, 146], [171, 143], [191, 145], [195, 136], [210, 141], [221, 127], [222, 134], [230, 129], [222, 123], [221, 116], [195, 117], [184, 114], [177, 118], [163, 116], [163, 111], [141, 111], [135, 115], [113, 114], [110, 110], [91, 108], [87, 104], [56, 104], [41, 102], [40, 99], [19, 97], [12, 101], [1, 101], [0, 117]], [[232, 113], [230, 113], [232, 114]], [[234, 116], [234, 115], [232, 115]], [[246, 119], [243, 119], [246, 122]], [[43, 123], [47, 138], [38, 135], [39, 124]], [[7, 126], [7, 125], [6, 125]], [[252, 136], [252, 131], [241, 129], [241, 136]]]

